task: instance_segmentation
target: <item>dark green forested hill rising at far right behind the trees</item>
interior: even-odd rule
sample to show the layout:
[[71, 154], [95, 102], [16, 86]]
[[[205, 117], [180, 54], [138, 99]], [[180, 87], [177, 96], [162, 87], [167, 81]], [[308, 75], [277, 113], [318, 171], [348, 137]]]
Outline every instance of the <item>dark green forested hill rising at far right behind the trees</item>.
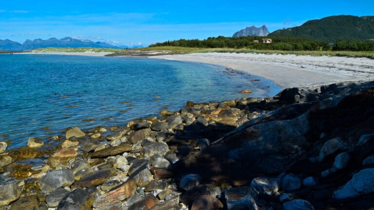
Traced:
[[374, 38], [374, 16], [330, 16], [301, 26], [275, 31], [268, 36], [302, 37], [323, 41]]

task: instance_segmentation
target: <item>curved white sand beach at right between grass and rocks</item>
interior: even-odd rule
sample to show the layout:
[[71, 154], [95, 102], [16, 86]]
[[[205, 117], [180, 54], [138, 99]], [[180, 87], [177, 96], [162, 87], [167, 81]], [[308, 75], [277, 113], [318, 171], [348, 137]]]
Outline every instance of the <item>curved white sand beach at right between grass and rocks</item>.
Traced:
[[272, 80], [281, 88], [374, 80], [374, 60], [369, 58], [255, 53], [193, 53], [150, 58], [222, 65]]

